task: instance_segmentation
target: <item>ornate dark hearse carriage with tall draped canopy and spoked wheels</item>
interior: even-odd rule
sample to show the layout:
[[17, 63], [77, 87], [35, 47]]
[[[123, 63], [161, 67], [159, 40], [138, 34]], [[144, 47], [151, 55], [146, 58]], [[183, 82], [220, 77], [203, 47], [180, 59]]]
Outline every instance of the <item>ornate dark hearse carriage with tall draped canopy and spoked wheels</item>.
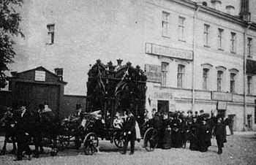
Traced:
[[[121, 125], [125, 110], [129, 109], [138, 121], [140, 130], [145, 132], [144, 112], [146, 104], [146, 75], [140, 66], [131, 63], [121, 65], [121, 60], [113, 66], [110, 61], [100, 60], [88, 72], [86, 112], [70, 115], [56, 123], [51, 131], [54, 136], [42, 137], [52, 142], [59, 150], [68, 148], [72, 142], [79, 148], [82, 144], [86, 154], [97, 151], [99, 138], [114, 142], [117, 147], [124, 145], [124, 132]], [[140, 138], [140, 137], [138, 137]], [[48, 142], [48, 143], [49, 143]], [[155, 147], [154, 129], [149, 128], [144, 135], [146, 149]], [[46, 144], [42, 142], [41, 144]], [[38, 146], [37, 146], [38, 147]], [[41, 146], [42, 147], [42, 146]]]

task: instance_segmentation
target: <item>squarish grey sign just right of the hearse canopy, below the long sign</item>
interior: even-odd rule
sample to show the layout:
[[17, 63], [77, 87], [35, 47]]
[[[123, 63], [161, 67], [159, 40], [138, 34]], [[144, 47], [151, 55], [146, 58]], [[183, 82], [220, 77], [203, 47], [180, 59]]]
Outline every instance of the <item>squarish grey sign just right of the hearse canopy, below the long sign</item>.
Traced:
[[161, 66], [145, 64], [145, 71], [148, 82], [162, 82]]

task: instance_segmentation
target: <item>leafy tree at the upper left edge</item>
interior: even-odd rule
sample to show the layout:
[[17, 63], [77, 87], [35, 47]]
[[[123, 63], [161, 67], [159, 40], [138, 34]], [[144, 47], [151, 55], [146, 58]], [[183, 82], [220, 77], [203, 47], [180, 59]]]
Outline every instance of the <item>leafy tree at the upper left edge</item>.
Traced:
[[13, 37], [24, 34], [20, 29], [21, 16], [16, 7], [22, 7], [23, 0], [0, 0], [0, 88], [7, 85], [5, 71], [15, 56]]

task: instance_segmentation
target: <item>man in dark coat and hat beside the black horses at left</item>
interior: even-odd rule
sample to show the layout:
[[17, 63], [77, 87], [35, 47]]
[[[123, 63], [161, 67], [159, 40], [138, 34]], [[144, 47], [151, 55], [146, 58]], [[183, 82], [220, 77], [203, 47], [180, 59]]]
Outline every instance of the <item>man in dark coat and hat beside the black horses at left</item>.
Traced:
[[17, 116], [17, 158], [15, 161], [21, 161], [23, 157], [23, 151], [26, 151], [26, 154], [31, 158], [31, 149], [28, 144], [29, 133], [30, 133], [30, 120], [31, 113], [29, 110], [26, 110], [26, 102], [21, 103], [21, 111]]

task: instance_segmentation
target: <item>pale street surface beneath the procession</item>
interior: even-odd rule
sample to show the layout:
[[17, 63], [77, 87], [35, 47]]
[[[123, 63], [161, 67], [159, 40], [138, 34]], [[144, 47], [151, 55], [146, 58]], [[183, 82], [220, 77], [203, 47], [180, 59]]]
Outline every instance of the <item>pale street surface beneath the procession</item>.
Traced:
[[[3, 137], [0, 137], [0, 147], [3, 145]], [[99, 153], [86, 156], [83, 150], [64, 150], [56, 157], [48, 156], [50, 149], [39, 158], [31, 161], [24, 158], [23, 161], [13, 161], [11, 154], [0, 156], [0, 164], [256, 164], [256, 139], [255, 132], [235, 132], [233, 136], [227, 137], [227, 143], [222, 155], [217, 154], [216, 140], [212, 139], [212, 146], [207, 153], [189, 150], [189, 143], [184, 148], [171, 148], [170, 150], [156, 149], [147, 152], [143, 147], [143, 141], [135, 143], [135, 154], [130, 156], [121, 155], [119, 149], [110, 141], [99, 140]], [[31, 147], [33, 148], [33, 147]], [[12, 145], [7, 145], [10, 151]]]

